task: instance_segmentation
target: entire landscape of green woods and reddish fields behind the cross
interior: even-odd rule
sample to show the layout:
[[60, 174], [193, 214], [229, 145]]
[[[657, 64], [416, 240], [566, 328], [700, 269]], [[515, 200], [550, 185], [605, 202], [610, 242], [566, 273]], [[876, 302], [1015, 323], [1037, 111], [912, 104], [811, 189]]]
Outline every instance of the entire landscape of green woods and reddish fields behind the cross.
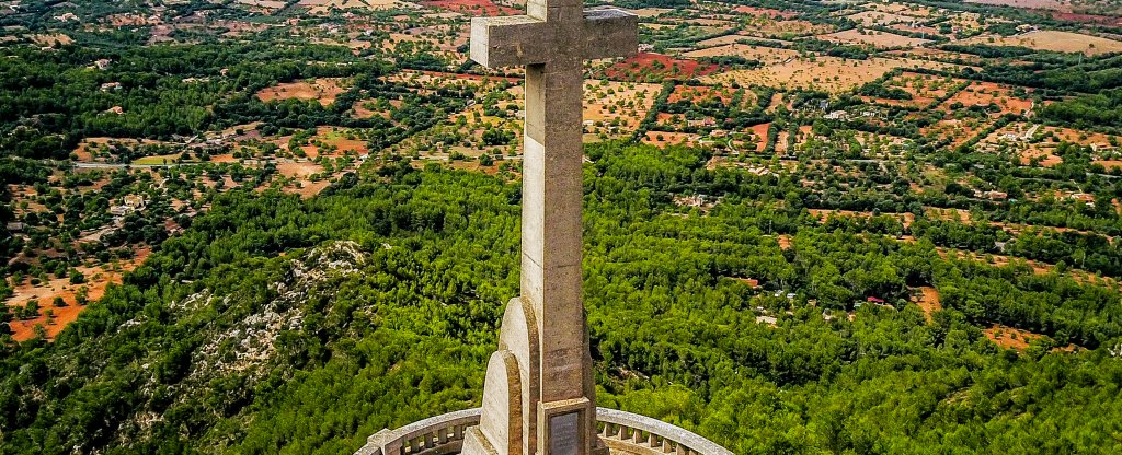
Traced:
[[[350, 454], [479, 406], [522, 73], [462, 4], [309, 3], [0, 0], [0, 455]], [[996, 40], [1116, 27], [609, 3], [665, 9], [665, 58], [585, 72], [599, 406], [745, 455], [1122, 453], [1122, 53]], [[838, 59], [923, 65], [712, 78]]]

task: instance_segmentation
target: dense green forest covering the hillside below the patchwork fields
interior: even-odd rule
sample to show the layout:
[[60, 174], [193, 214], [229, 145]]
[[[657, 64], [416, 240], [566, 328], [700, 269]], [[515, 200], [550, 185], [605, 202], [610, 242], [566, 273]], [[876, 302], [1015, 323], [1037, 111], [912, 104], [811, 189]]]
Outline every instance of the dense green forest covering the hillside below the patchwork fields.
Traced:
[[[587, 154], [600, 406], [737, 454], [1122, 449], [1118, 289], [819, 222], [790, 177], [705, 151]], [[339, 454], [478, 406], [518, 182], [404, 160], [359, 177], [222, 194], [56, 342], [4, 343], [0, 453]], [[711, 211], [672, 202], [715, 187], [734, 189]], [[919, 286], [944, 296], [930, 321]], [[1006, 351], [993, 323], [1049, 336]]]

